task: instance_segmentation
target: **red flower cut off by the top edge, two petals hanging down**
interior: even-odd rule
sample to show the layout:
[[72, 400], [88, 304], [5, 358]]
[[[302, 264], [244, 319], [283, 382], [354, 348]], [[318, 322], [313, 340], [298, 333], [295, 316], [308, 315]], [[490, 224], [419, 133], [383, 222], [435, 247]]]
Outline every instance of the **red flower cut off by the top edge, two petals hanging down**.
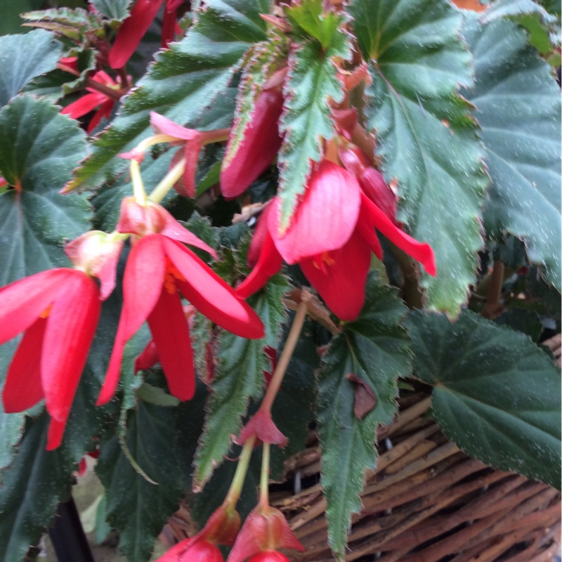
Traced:
[[[119, 28], [109, 55], [110, 67], [121, 68], [131, 58], [163, 1], [138, 0], [131, 10], [129, 18], [126, 18]], [[162, 20], [162, 47], [167, 47], [169, 42], [174, 40], [176, 15], [181, 4], [183, 4], [183, 0], [166, 0], [164, 20]]]

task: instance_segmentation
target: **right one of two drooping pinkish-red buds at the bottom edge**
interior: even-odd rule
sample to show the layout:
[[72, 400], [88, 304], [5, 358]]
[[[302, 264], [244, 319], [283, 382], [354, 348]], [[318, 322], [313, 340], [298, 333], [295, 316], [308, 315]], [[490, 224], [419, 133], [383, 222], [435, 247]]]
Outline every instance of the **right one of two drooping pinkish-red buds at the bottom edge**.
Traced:
[[277, 549], [305, 550], [289, 529], [289, 523], [281, 511], [259, 504], [244, 521], [228, 555], [228, 562], [243, 562], [260, 552]]

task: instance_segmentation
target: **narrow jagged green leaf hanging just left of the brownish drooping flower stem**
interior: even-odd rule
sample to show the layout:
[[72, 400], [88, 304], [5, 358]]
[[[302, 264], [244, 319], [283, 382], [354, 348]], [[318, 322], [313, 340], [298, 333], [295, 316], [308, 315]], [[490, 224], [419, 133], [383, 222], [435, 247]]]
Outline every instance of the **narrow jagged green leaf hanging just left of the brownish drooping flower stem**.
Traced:
[[213, 393], [207, 405], [205, 428], [197, 450], [195, 486], [201, 488], [215, 466], [221, 464], [230, 449], [230, 438], [240, 430], [249, 398], [257, 399], [263, 387], [263, 371], [268, 359], [263, 348], [277, 348], [285, 311], [281, 303], [287, 291], [281, 275], [272, 277], [266, 288], [248, 302], [266, 327], [263, 339], [245, 339], [222, 332], [218, 337], [218, 366], [211, 384]]

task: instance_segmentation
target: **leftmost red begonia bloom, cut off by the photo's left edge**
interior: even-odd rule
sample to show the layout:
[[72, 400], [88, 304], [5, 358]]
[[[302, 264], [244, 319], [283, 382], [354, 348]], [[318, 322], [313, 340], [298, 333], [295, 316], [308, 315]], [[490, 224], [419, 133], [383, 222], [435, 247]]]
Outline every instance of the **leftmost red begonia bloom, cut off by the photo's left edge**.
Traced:
[[4, 410], [22, 412], [45, 398], [47, 450], [63, 439], [99, 315], [98, 285], [75, 269], [42, 271], [0, 289], [0, 344], [24, 332], [8, 367]]

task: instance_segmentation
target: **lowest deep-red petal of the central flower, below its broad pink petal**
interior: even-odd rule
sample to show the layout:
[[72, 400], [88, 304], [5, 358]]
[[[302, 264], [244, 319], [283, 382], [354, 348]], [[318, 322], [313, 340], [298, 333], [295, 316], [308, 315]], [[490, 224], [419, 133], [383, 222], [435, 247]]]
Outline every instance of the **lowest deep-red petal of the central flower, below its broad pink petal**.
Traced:
[[[332, 265], [317, 265], [317, 259], [299, 263], [306, 278], [341, 320], [355, 320], [365, 302], [365, 282], [371, 264], [371, 250], [355, 231], [343, 248], [329, 252]], [[322, 270], [324, 269], [324, 270]]]

